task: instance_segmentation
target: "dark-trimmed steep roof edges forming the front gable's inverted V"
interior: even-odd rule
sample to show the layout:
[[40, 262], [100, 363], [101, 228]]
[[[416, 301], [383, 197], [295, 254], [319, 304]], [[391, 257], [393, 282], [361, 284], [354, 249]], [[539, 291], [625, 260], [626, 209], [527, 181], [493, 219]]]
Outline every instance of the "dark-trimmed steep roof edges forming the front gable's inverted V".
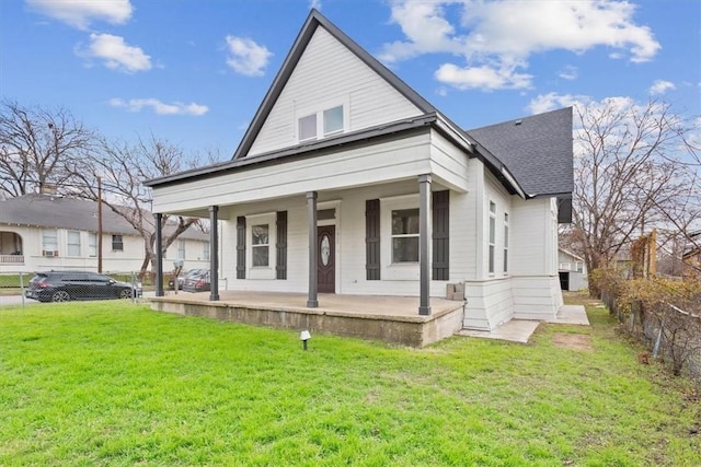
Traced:
[[381, 65], [375, 57], [368, 54], [363, 47], [360, 47], [355, 40], [348, 37], [343, 31], [336, 27], [335, 24], [326, 20], [324, 15], [322, 15], [318, 10], [312, 9], [304, 21], [295, 43], [292, 44], [292, 48], [289, 54], [285, 58], [279, 71], [277, 72], [275, 79], [273, 80], [273, 84], [268, 89], [265, 97], [263, 97], [263, 102], [258, 107], [251, 125], [249, 126], [246, 132], [243, 135], [239, 147], [237, 148], [233, 160], [245, 157], [251, 145], [255, 141], [263, 124], [265, 122], [267, 116], [269, 115], [273, 106], [277, 102], [277, 98], [280, 96], [280, 93], [285, 89], [287, 81], [295, 71], [297, 63], [299, 62], [304, 49], [309, 45], [314, 32], [319, 26], [322, 26], [329, 34], [331, 34], [336, 40], [338, 40], [342, 45], [344, 45], [348, 50], [355, 54], [366, 66], [372, 69], [376, 73], [381, 75], [384, 81], [391, 84], [397, 91], [399, 91], [406, 100], [409, 100], [412, 104], [414, 104], [421, 112], [424, 114], [433, 114], [436, 113], [436, 108], [428, 103], [424, 97], [422, 97], [416, 91], [410, 87], [406, 83], [400, 80], [397, 74], [392, 73], [387, 67]]

